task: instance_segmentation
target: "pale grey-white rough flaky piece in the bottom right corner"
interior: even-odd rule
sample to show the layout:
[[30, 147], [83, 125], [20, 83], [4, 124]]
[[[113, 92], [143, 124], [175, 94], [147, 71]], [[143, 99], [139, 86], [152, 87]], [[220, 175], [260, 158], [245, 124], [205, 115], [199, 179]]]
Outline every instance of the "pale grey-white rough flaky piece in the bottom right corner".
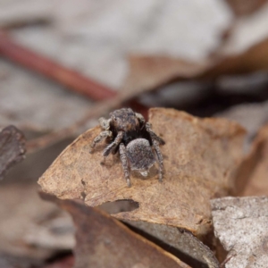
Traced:
[[268, 198], [224, 197], [211, 204], [215, 236], [229, 251], [225, 267], [266, 268]]

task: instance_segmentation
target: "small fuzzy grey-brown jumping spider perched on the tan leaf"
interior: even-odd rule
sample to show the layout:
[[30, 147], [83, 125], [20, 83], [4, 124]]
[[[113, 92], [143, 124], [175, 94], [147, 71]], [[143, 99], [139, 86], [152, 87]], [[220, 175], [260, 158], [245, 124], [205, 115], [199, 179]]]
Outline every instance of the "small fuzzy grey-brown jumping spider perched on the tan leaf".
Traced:
[[141, 114], [134, 113], [130, 108], [122, 108], [110, 113], [108, 120], [101, 117], [99, 123], [103, 131], [94, 138], [90, 147], [93, 149], [96, 143], [106, 138], [110, 144], [105, 147], [103, 155], [107, 156], [110, 153], [114, 155], [119, 151], [129, 187], [131, 186], [130, 170], [147, 176], [155, 160], [159, 165], [159, 181], [163, 180], [163, 156], [159, 145], [164, 145], [164, 141], [155, 134], [151, 124], [146, 122]]

